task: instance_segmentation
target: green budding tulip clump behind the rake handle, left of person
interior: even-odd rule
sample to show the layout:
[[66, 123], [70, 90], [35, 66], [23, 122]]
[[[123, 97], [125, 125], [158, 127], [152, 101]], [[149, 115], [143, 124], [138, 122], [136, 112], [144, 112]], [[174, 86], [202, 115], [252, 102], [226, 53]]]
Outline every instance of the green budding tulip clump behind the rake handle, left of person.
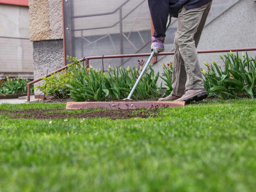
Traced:
[[[72, 82], [65, 84], [65, 86], [70, 89], [70, 96], [75, 101], [89, 101], [91, 99], [108, 101], [109, 95], [112, 99], [127, 98], [140, 75], [135, 67], [133, 70], [130, 67], [127, 69], [123, 67], [112, 68], [111, 71], [108, 70], [108, 73], [104, 74], [101, 70], [91, 66], [86, 69], [77, 58], [72, 58], [72, 60], [78, 67], [74, 70]], [[142, 70], [143, 63], [143, 61], [139, 63], [140, 70]], [[111, 69], [110, 66], [109, 68]], [[82, 69], [82, 73], [79, 69]], [[154, 76], [154, 70], [150, 66], [150, 72], [145, 73], [132, 98], [159, 98], [162, 85], [160, 88], [157, 86], [158, 77], [159, 72]]]

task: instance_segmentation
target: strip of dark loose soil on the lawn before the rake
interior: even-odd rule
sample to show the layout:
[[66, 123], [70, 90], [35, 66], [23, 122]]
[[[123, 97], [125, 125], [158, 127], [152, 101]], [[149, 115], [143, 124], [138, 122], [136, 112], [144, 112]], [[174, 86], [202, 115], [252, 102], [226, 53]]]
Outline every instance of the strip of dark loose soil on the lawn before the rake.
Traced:
[[[47, 114], [49, 113], [50, 114]], [[23, 111], [0, 111], [0, 113], [6, 113], [12, 116], [13, 119], [24, 118], [24, 119], [57, 119], [57, 118], [95, 118], [95, 117], [109, 117], [110, 119], [129, 119], [129, 118], [148, 118], [156, 117], [157, 109], [150, 109], [146, 111], [137, 111], [126, 109], [126, 110], [108, 110], [108, 111], [97, 111], [97, 112], [81, 112], [68, 113], [63, 110], [23, 110]]]

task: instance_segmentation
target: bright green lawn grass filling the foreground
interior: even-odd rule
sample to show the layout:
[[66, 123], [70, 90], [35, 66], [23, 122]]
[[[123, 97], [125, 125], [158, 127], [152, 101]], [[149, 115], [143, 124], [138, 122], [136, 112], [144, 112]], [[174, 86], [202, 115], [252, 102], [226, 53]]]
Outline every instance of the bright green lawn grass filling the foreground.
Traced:
[[[256, 191], [256, 100], [161, 108], [156, 118], [0, 115], [0, 191]], [[65, 109], [1, 104], [0, 110]]]

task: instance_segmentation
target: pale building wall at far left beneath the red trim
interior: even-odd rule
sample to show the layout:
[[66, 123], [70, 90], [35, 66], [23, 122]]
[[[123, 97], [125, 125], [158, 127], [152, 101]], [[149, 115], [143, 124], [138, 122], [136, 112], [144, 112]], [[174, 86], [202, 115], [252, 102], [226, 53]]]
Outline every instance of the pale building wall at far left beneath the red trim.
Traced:
[[33, 77], [28, 7], [0, 4], [0, 45], [0, 77]]

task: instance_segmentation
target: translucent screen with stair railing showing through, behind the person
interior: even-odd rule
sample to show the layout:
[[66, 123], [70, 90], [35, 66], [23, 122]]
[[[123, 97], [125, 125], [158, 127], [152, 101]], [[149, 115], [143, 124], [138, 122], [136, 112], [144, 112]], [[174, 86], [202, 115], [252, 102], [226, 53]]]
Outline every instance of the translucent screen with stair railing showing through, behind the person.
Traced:
[[[237, 1], [213, 1], [206, 23]], [[64, 2], [64, 23], [71, 27], [71, 30], [65, 27], [65, 32], [68, 31], [65, 33], [66, 53], [83, 58], [150, 51], [151, 22], [147, 0], [87, 0], [86, 3], [83, 0], [70, 0], [66, 3], [68, 6]], [[166, 33], [165, 51], [173, 50], [176, 30], [177, 18], [172, 18]], [[147, 58], [104, 59], [104, 68], [107, 69], [109, 64], [137, 65], [138, 59]], [[102, 60], [91, 60], [90, 64], [101, 68]]]

